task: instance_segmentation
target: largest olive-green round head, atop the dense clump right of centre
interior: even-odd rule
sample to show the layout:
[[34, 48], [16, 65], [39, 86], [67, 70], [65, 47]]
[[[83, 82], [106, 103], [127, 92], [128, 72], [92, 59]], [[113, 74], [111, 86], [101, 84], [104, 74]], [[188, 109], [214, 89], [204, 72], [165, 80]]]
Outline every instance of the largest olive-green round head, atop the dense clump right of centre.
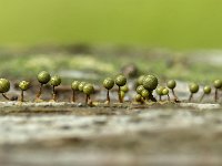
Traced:
[[158, 86], [158, 77], [155, 77], [154, 75], [147, 75], [143, 79], [143, 87], [145, 90], [152, 91], [155, 90]]

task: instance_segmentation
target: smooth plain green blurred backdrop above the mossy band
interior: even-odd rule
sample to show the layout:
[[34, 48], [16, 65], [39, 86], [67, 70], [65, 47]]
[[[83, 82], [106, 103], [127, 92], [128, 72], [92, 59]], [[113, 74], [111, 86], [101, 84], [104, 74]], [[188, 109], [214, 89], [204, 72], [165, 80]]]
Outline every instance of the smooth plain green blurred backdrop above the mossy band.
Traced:
[[0, 45], [222, 48], [222, 0], [1, 0]]

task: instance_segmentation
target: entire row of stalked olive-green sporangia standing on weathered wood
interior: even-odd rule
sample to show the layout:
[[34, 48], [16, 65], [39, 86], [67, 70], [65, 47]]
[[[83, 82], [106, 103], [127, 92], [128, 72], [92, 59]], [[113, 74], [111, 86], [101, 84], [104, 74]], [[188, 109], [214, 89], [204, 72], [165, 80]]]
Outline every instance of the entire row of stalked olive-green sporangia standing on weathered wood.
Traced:
[[[40, 83], [40, 89], [36, 97], [36, 102], [41, 102], [41, 94], [42, 94], [42, 87], [43, 85], [50, 83], [52, 86], [52, 100], [51, 101], [57, 101], [57, 93], [56, 93], [56, 87], [61, 84], [61, 77], [58, 75], [51, 76], [48, 72], [42, 71], [38, 74], [37, 76], [39, 83]], [[105, 103], [109, 105], [110, 104], [110, 90], [113, 89], [114, 84], [118, 85], [118, 96], [119, 96], [119, 102], [123, 103], [124, 94], [129, 91], [129, 87], [127, 85], [127, 77], [122, 74], [118, 75], [114, 80], [111, 77], [107, 77], [103, 81], [103, 86], [107, 89], [107, 101]], [[180, 102], [179, 98], [175, 95], [174, 89], [176, 86], [176, 82], [174, 80], [170, 80], [167, 82], [167, 86], [158, 86], [159, 81], [157, 76], [154, 75], [141, 75], [138, 81], [137, 81], [137, 95], [134, 97], [134, 101], [137, 103], [143, 104], [145, 102], [152, 101], [157, 102], [158, 100], [153, 96], [153, 91], [159, 95], [159, 101], [162, 101], [162, 96], [167, 96], [168, 101], [171, 101], [170, 98], [170, 92], [172, 92], [172, 101], [173, 102]], [[214, 93], [214, 101], [218, 102], [219, 100], [219, 90], [222, 89], [222, 80], [215, 80], [213, 82], [213, 86], [215, 89]], [[21, 90], [21, 96], [20, 101], [23, 102], [23, 92], [27, 91], [30, 87], [30, 83], [27, 81], [21, 81], [19, 83], [19, 87]], [[192, 101], [193, 94], [199, 92], [199, 85], [196, 83], [191, 83], [189, 85], [190, 90], [190, 97], [189, 102]], [[6, 93], [10, 90], [10, 82], [7, 79], [0, 79], [0, 93], [3, 95], [4, 98], [10, 100]], [[79, 82], [79, 81], [73, 81], [71, 84], [71, 90], [72, 90], [72, 102], [75, 102], [75, 92], [83, 92], [85, 94], [85, 104], [92, 105], [92, 101], [90, 98], [90, 95], [94, 92], [94, 87], [91, 83], [87, 82]], [[203, 94], [200, 98], [200, 102], [204, 98], [205, 95], [209, 95], [212, 92], [212, 87], [210, 85], [205, 85], [203, 87]]]

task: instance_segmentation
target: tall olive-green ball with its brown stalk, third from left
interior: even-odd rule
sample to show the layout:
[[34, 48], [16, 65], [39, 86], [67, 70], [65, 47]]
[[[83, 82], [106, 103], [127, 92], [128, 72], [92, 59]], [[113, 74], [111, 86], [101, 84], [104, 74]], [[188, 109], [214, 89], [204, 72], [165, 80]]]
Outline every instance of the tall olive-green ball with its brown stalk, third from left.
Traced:
[[42, 71], [37, 75], [37, 80], [40, 83], [40, 87], [39, 87], [39, 92], [37, 93], [37, 101], [40, 98], [41, 94], [42, 94], [42, 87], [44, 84], [47, 84], [50, 81], [51, 76], [48, 72]]

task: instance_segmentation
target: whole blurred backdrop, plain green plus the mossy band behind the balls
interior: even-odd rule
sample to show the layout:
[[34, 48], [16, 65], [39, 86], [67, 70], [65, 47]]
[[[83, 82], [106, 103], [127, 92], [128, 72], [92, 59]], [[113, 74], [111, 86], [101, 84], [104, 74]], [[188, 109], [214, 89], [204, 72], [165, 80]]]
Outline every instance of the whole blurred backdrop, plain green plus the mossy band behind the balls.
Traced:
[[1, 75], [109, 75], [133, 64], [210, 82], [222, 70], [221, 11], [221, 0], [2, 0]]

